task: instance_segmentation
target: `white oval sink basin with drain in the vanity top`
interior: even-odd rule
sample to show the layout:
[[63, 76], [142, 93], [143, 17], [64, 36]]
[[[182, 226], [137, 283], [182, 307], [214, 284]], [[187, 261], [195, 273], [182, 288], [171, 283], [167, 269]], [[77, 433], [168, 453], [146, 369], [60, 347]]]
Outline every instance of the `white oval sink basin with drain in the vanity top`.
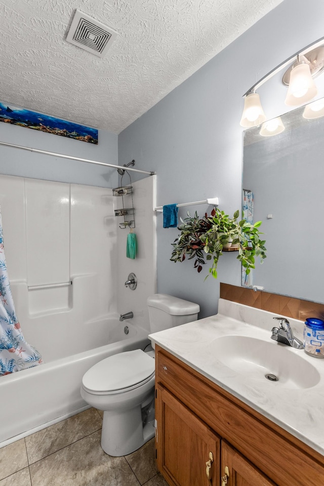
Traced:
[[[316, 368], [305, 359], [304, 351], [295, 351], [284, 344], [249, 336], [222, 336], [210, 343], [216, 359], [244, 381], [259, 380], [269, 386], [311, 388], [320, 380]], [[314, 358], [316, 359], [316, 358]], [[265, 375], [275, 375], [270, 381]]]

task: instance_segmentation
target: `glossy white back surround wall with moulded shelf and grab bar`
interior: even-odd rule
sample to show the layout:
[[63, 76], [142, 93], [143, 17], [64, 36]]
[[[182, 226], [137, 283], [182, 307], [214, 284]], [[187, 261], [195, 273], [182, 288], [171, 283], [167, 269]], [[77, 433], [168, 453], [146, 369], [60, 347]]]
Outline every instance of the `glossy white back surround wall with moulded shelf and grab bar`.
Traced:
[[27, 342], [45, 362], [106, 344], [92, 335], [90, 322], [117, 316], [111, 189], [0, 175], [0, 204], [11, 289]]

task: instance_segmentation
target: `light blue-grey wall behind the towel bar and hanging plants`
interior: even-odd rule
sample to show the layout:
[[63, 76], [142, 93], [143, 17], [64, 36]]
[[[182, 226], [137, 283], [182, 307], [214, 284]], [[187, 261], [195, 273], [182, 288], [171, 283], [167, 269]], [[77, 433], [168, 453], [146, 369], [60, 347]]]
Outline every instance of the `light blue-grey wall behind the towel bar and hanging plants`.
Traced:
[[[323, 18], [322, 0], [285, 0], [119, 135], [120, 163], [135, 158], [138, 167], [156, 171], [158, 206], [218, 196], [226, 213], [240, 207], [242, 95], [277, 64], [324, 36]], [[324, 75], [318, 78], [323, 80]], [[272, 85], [259, 90], [269, 118], [287, 111], [285, 88], [279, 81]], [[196, 209], [203, 214], [212, 208]], [[186, 210], [179, 214], [184, 217]], [[235, 254], [221, 257], [217, 280], [204, 282], [207, 272], [197, 274], [191, 261], [169, 261], [177, 234], [177, 229], [163, 229], [159, 214], [157, 290], [197, 302], [200, 316], [214, 314], [219, 283], [240, 285]]]

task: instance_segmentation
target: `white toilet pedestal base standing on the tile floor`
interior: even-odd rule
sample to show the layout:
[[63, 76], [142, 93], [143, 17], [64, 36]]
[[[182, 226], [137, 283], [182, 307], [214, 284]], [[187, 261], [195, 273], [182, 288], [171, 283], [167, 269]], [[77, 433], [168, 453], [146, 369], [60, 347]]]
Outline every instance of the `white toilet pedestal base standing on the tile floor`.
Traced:
[[125, 413], [104, 412], [101, 447], [109, 456], [127, 456], [154, 437], [154, 419], [142, 423], [141, 406]]

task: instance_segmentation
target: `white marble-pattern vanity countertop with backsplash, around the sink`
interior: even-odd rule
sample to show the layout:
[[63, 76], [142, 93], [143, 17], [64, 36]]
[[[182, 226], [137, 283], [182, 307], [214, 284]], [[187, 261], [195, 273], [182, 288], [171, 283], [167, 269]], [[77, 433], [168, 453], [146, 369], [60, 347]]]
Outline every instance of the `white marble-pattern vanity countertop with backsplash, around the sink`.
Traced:
[[[217, 315], [151, 334], [149, 339], [153, 345], [158, 344], [166, 349], [324, 456], [324, 359], [271, 340], [271, 329], [277, 325], [272, 318], [276, 315], [220, 299]], [[295, 337], [302, 340], [303, 322], [292, 318], [289, 321]], [[276, 370], [268, 371], [279, 377], [277, 382], [268, 381], [264, 374], [257, 378], [234, 371], [215, 352], [215, 343], [223, 336], [261, 339], [269, 345], [283, 348], [282, 351], [273, 348], [274, 352], [280, 351], [281, 356], [283, 352], [297, 354], [294, 358], [302, 358], [298, 360], [302, 366], [294, 373], [300, 375], [308, 387], [298, 387], [289, 379], [280, 380], [280, 373], [285, 374], [285, 370], [282, 370], [285, 365], [281, 365], [281, 370], [279, 365]], [[312, 369], [318, 376], [319, 380], [314, 386], [307, 383], [308, 376], [303, 366], [306, 370], [307, 367]]]

